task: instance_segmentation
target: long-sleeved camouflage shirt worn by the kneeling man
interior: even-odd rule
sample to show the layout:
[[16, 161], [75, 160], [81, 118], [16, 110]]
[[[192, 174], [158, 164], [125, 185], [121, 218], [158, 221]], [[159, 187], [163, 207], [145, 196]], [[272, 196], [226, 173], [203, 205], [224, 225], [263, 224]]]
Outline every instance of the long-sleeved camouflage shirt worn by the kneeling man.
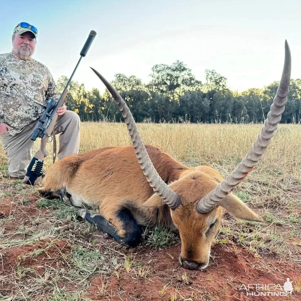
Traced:
[[47, 101], [56, 101], [55, 81], [46, 66], [31, 58], [21, 60], [12, 52], [0, 54], [0, 122], [15, 135], [43, 114]]

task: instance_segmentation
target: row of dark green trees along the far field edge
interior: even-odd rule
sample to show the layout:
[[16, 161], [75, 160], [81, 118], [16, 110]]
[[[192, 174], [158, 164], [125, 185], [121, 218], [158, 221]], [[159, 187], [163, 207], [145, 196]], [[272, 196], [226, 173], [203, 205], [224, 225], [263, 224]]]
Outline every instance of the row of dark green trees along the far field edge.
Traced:
[[[263, 89], [250, 88], [238, 93], [227, 87], [227, 78], [215, 70], [205, 70], [206, 82], [198, 81], [191, 69], [176, 61], [151, 69], [151, 81], [135, 76], [115, 75], [111, 84], [129, 106], [136, 122], [261, 123], [267, 118], [279, 81]], [[68, 78], [61, 76], [61, 93]], [[301, 79], [291, 79], [288, 102], [281, 123], [300, 123]], [[69, 110], [82, 121], [120, 121], [123, 117], [106, 89], [87, 91], [84, 84], [72, 81], [66, 100]]]

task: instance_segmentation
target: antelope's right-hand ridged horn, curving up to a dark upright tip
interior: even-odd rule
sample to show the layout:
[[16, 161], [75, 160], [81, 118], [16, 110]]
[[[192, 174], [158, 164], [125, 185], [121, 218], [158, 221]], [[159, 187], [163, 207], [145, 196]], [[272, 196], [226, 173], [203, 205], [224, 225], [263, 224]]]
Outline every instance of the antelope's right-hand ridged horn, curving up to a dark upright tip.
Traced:
[[215, 187], [209, 194], [203, 197], [197, 204], [197, 211], [201, 214], [208, 213], [219, 202], [225, 198], [243, 179], [247, 176], [261, 156], [265, 153], [270, 140], [277, 129], [284, 112], [284, 106], [288, 101], [289, 82], [291, 77], [291, 52], [287, 40], [285, 40], [285, 60], [282, 71], [281, 81], [277, 89], [276, 96], [271, 105], [270, 112], [267, 114], [261, 133], [257, 136], [257, 140], [252, 145], [246, 157], [241, 161], [237, 168]]

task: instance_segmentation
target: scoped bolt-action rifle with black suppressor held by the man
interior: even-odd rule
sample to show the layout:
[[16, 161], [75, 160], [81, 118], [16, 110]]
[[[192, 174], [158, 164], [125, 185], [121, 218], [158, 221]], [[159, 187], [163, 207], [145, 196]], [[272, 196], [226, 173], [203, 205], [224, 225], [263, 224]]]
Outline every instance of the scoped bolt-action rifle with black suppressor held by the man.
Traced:
[[46, 109], [43, 115], [41, 116], [41, 118], [39, 119], [39, 124], [37, 125], [36, 129], [34, 130], [33, 134], [30, 137], [30, 139], [33, 141], [35, 141], [37, 138], [41, 138], [41, 144], [40, 144], [40, 149], [35, 153], [34, 157], [29, 163], [29, 166], [27, 167], [26, 175], [23, 180], [23, 182], [26, 184], [34, 185], [34, 182], [36, 180], [38, 180], [37, 182], [40, 182], [42, 179], [44, 158], [48, 156], [48, 152], [46, 151], [46, 145], [49, 140], [49, 137], [51, 137], [51, 140], [49, 142], [53, 140], [53, 163], [55, 162], [56, 140], [55, 140], [54, 127], [58, 119], [58, 114], [56, 113], [56, 110], [57, 108], [63, 106], [68, 94], [67, 88], [70, 85], [71, 79], [82, 57], [86, 56], [95, 36], [96, 36], [96, 32], [94, 30], [91, 30], [87, 38], [87, 41], [83, 46], [82, 51], [80, 52], [81, 57], [77, 62], [77, 65], [73, 70], [71, 77], [69, 78], [66, 87], [64, 88], [59, 100], [57, 102], [54, 99], [48, 100]]

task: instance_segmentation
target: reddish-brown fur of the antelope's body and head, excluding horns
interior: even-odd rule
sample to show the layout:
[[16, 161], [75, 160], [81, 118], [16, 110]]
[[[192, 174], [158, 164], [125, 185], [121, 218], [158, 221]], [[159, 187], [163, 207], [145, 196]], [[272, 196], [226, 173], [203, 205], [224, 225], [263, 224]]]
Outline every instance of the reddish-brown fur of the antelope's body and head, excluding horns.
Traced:
[[[180, 197], [181, 203], [175, 210], [153, 193], [130, 145], [105, 147], [61, 159], [50, 166], [44, 187], [39, 191], [45, 194], [64, 190], [71, 195], [74, 205], [97, 205], [99, 213], [116, 227], [121, 237], [127, 231], [117, 214], [120, 208], [129, 209], [138, 225], [176, 227], [182, 241], [183, 266], [205, 268], [222, 209], [218, 206], [208, 214], [199, 214], [196, 205], [223, 177], [209, 166], [189, 168], [159, 148], [145, 147], [158, 174]], [[232, 193], [221, 205], [235, 217], [261, 220]]]

